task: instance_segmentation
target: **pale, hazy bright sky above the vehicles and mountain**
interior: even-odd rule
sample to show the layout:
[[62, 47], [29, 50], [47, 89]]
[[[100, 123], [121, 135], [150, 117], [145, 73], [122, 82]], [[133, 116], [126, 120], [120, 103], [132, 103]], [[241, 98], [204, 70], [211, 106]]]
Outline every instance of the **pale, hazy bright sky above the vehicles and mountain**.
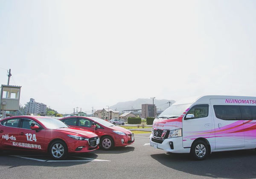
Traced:
[[59, 113], [256, 96], [255, 0], [0, 0], [0, 83]]

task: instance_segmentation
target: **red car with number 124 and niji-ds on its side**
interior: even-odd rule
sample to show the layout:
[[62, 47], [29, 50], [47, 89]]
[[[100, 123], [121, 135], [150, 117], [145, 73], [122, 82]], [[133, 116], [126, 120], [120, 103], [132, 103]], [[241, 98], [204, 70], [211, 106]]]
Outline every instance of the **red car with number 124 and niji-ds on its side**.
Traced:
[[61, 160], [68, 153], [99, 148], [99, 137], [44, 116], [14, 116], [0, 120], [0, 151], [28, 150], [49, 153]]

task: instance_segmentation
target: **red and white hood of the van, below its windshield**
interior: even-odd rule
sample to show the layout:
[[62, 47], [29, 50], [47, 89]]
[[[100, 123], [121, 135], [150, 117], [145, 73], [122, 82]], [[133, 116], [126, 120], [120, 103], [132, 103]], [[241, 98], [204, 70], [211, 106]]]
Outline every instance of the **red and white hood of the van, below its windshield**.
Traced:
[[182, 117], [154, 119], [153, 128], [175, 130], [182, 128]]

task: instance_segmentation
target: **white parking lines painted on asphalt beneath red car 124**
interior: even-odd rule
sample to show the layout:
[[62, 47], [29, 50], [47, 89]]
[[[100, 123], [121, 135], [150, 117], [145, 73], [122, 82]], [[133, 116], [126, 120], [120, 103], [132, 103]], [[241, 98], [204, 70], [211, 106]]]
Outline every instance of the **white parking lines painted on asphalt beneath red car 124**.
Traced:
[[[29, 160], [35, 160], [39, 162], [111, 162], [110, 160], [101, 160], [101, 159], [91, 159], [91, 158], [86, 158], [86, 157], [78, 157], [78, 156], [73, 156], [74, 158], [79, 158], [79, 159], [86, 159], [86, 160], [42, 160], [42, 159], [35, 159], [35, 158], [30, 158], [30, 157], [25, 157], [25, 156], [15, 156], [11, 155], [13, 157], [18, 157], [21, 159], [29, 159]], [[31, 156], [31, 155], [29, 155]]]

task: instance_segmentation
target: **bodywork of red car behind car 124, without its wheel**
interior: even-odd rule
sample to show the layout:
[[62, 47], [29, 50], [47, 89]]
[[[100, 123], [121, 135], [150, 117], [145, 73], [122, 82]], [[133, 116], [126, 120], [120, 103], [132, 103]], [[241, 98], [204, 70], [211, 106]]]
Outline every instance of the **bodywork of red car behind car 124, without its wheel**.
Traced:
[[[113, 147], [121, 147], [121, 146], [131, 145], [134, 143], [134, 135], [133, 133], [131, 133], [130, 130], [127, 130], [123, 127], [115, 126], [110, 122], [100, 118], [73, 116], [73, 117], [61, 118], [59, 120], [63, 121], [65, 124], [67, 124], [70, 127], [77, 127], [84, 130], [90, 130], [96, 133], [100, 139], [102, 139], [105, 136], [110, 136], [114, 141]], [[85, 122], [88, 121], [88, 124], [87, 125], [82, 124], [81, 121], [85, 121]], [[93, 122], [96, 124], [96, 128], [93, 128], [91, 126]], [[107, 126], [104, 124], [106, 124]], [[120, 131], [122, 133], [125, 133], [125, 135], [119, 135], [113, 131]]]

